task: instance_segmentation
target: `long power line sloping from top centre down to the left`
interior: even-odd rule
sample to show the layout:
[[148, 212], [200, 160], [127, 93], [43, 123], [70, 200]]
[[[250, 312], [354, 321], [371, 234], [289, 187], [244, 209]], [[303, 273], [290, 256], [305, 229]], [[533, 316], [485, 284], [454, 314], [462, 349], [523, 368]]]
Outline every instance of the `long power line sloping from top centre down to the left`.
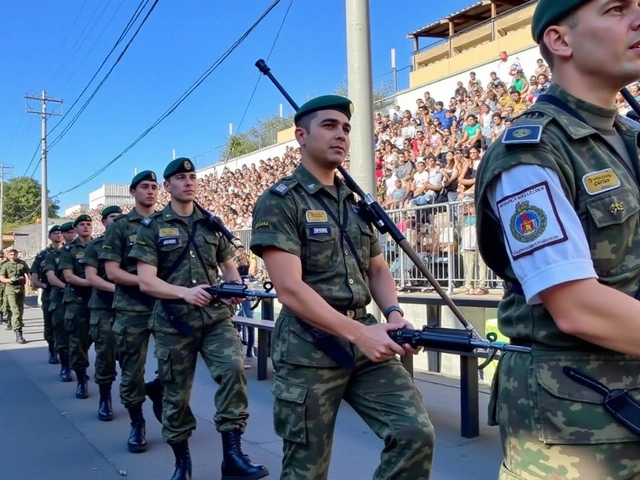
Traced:
[[59, 197], [60, 195], [64, 195], [65, 193], [72, 192], [80, 188], [81, 186], [87, 184], [105, 170], [107, 170], [111, 165], [113, 165], [116, 161], [122, 158], [129, 150], [135, 147], [144, 137], [146, 137], [152, 130], [154, 130], [158, 125], [160, 125], [167, 117], [169, 117], [176, 109], [184, 102], [221, 64], [224, 62], [233, 51], [242, 44], [246, 40], [246, 38], [255, 30], [255, 28], [271, 13], [271, 11], [280, 3], [281, 0], [275, 0], [263, 13], [260, 15], [258, 20], [249, 27], [249, 29], [238, 39], [236, 40], [231, 47], [229, 47], [187, 90], [176, 100], [171, 107], [169, 107], [149, 128], [147, 128], [138, 138], [136, 138], [127, 148], [125, 148], [122, 152], [120, 152], [113, 160], [107, 162], [103, 167], [101, 167], [98, 171], [90, 175], [89, 177], [82, 180], [77, 185], [69, 188], [68, 190], [64, 190], [62, 192], [57, 193], [51, 198]]

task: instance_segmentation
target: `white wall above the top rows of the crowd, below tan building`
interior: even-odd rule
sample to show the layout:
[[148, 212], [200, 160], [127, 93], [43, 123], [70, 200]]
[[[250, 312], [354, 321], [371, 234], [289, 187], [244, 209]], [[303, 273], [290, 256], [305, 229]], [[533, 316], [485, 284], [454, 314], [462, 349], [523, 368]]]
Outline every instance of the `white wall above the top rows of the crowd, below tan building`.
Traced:
[[[536, 60], [540, 58], [540, 49], [535, 46], [509, 56], [509, 58], [512, 57], [517, 57], [520, 60], [520, 64], [524, 69], [525, 78], [529, 80], [529, 77], [535, 74], [537, 66]], [[449, 105], [449, 99], [453, 97], [457, 81], [461, 81], [466, 88], [469, 83], [469, 72], [476, 72], [476, 78], [480, 80], [482, 87], [486, 88], [487, 83], [491, 78], [489, 74], [496, 71], [497, 62], [498, 59], [478, 67], [470, 68], [465, 72], [443, 78], [437, 82], [428, 85], [421, 85], [420, 87], [416, 87], [412, 90], [406, 90], [396, 97], [396, 103], [402, 110], [410, 110], [411, 112], [414, 112], [416, 110], [416, 100], [418, 98], [424, 98], [424, 92], [428, 91], [431, 94], [431, 98], [435, 98], [436, 101], [442, 101], [446, 107]]]

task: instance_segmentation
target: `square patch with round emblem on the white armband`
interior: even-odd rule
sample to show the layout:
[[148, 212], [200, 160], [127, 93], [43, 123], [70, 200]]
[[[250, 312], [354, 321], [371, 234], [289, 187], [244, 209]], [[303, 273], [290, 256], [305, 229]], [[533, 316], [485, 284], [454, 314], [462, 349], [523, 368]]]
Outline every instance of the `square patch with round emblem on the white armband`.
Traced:
[[568, 240], [547, 182], [509, 195], [497, 206], [514, 260]]

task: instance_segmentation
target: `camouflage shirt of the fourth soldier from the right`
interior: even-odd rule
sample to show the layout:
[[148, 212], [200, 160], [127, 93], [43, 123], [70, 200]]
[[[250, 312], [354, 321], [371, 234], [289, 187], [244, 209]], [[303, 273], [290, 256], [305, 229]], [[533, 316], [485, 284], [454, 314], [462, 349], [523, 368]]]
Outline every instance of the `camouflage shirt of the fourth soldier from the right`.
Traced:
[[[116, 218], [104, 234], [104, 244], [98, 258], [117, 262], [125, 272], [137, 275], [136, 261], [129, 258], [129, 252], [136, 241], [142, 220], [144, 217], [135, 209]], [[151, 313], [154, 303], [154, 299], [142, 293], [137, 286], [116, 283], [114, 309]]]

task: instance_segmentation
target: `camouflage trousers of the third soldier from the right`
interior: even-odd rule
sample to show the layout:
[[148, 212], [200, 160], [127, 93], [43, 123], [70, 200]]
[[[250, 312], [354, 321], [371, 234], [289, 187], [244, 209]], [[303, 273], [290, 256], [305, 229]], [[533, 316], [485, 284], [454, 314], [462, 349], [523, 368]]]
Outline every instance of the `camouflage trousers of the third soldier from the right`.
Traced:
[[249, 418], [242, 343], [231, 318], [212, 320], [194, 309], [190, 309], [190, 315], [198, 319], [189, 322], [195, 329], [191, 336], [176, 331], [162, 314], [155, 313], [153, 317], [154, 354], [164, 386], [162, 437], [170, 445], [186, 440], [196, 429], [189, 400], [198, 353], [218, 384], [213, 417], [216, 429], [244, 433]]

